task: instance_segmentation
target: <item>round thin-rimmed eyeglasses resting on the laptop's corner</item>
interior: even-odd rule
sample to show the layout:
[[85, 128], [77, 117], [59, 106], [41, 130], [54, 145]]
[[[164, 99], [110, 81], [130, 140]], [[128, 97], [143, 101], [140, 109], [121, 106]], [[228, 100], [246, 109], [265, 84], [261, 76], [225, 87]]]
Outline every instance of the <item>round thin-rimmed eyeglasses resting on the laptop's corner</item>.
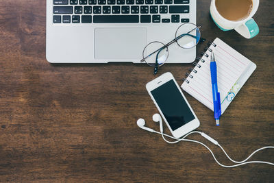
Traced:
[[167, 58], [169, 58], [169, 45], [176, 42], [177, 45], [183, 49], [191, 49], [195, 47], [200, 40], [204, 41], [204, 39], [201, 38], [199, 28], [201, 28], [201, 26], [197, 27], [197, 25], [193, 23], [184, 23], [177, 28], [175, 38], [166, 45], [160, 41], [150, 42], [142, 51], [142, 60], [140, 60], [140, 62], [146, 62], [149, 66], [153, 66], [153, 74], [158, 73], [158, 67], [162, 66]]

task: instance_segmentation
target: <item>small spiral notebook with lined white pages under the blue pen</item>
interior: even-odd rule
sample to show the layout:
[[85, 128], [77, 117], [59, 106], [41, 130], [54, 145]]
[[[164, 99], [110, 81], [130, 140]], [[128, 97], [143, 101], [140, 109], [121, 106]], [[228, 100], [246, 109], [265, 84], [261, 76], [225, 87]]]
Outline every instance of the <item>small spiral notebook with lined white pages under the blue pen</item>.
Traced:
[[210, 52], [213, 51], [217, 64], [218, 90], [221, 95], [223, 114], [240, 88], [255, 71], [256, 64], [219, 38], [210, 42], [208, 46], [205, 49], [206, 52], [201, 54], [202, 57], [197, 58], [198, 62], [194, 62], [195, 68], [190, 69], [190, 73], [186, 73], [187, 77], [183, 79], [184, 83], [181, 87], [210, 110], [214, 110], [210, 76]]

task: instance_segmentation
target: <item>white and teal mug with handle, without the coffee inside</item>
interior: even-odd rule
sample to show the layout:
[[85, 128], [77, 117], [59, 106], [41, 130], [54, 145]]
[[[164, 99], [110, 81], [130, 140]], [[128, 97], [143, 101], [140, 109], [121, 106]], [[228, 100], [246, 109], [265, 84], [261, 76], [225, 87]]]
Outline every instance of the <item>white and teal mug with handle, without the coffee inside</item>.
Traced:
[[[228, 0], [227, 0], [228, 1]], [[252, 0], [253, 7], [252, 10], [247, 16], [246, 19], [242, 19], [240, 21], [229, 21], [225, 19], [216, 9], [215, 0], [211, 1], [210, 5], [210, 14], [211, 17], [216, 23], [216, 25], [223, 31], [229, 31], [231, 29], [235, 29], [240, 35], [245, 38], [253, 38], [259, 33], [259, 27], [257, 23], [252, 19], [252, 16], [256, 13], [259, 7], [259, 0]]]

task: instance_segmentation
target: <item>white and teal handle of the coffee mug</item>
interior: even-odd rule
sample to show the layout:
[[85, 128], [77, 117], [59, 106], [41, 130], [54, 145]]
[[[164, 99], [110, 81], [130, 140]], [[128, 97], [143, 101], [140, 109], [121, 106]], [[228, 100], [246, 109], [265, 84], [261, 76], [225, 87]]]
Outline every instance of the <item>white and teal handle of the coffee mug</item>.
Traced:
[[259, 27], [254, 19], [245, 21], [245, 23], [242, 23], [242, 25], [236, 27], [235, 30], [238, 32], [238, 34], [248, 39], [253, 38], [259, 34]]

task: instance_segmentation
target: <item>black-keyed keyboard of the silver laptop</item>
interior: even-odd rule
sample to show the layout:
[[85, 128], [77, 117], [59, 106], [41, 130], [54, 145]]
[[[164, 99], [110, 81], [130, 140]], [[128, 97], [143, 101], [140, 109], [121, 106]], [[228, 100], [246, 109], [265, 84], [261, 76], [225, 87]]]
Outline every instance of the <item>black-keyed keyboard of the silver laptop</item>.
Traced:
[[53, 0], [53, 23], [186, 23], [191, 0]]

